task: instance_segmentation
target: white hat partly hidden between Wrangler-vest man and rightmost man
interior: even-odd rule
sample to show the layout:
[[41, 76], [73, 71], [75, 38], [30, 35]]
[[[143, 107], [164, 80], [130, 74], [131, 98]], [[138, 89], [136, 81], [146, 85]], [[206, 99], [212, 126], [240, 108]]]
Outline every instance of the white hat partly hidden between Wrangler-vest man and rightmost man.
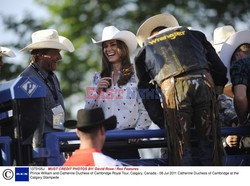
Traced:
[[221, 51], [223, 43], [234, 33], [235, 29], [231, 25], [225, 25], [214, 29], [212, 45], [217, 53]]

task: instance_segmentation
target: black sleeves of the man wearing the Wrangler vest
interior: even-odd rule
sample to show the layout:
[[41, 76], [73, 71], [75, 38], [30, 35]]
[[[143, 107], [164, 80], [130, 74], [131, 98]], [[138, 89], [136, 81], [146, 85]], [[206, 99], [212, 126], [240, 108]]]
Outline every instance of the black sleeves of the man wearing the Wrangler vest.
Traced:
[[[213, 48], [211, 43], [207, 41], [206, 36], [202, 32], [191, 30], [191, 33], [195, 38], [197, 38], [197, 40], [200, 41], [200, 43], [206, 50], [206, 59], [209, 63], [209, 70], [213, 77], [215, 86], [224, 87], [224, 85], [227, 83], [227, 68], [224, 66], [219, 56], [215, 52], [215, 49]], [[146, 50], [145, 47], [143, 47], [135, 57], [135, 68], [139, 80], [138, 89], [147, 89], [151, 91], [152, 89], [160, 87], [157, 87], [156, 84], [153, 85], [150, 83], [150, 81], [152, 81], [154, 77], [152, 77], [152, 74], [150, 74], [147, 70], [147, 60], [145, 60], [145, 57]], [[148, 111], [151, 120], [159, 127], [163, 128], [164, 114], [160, 99], [142, 99], [142, 102], [146, 110]]]

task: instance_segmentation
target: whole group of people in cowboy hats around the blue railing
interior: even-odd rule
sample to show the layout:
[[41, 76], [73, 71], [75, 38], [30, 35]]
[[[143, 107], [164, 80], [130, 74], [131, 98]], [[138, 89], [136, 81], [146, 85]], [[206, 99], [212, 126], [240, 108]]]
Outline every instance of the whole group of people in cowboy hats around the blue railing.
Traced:
[[[44, 126], [34, 134], [40, 136], [35, 146], [43, 146], [45, 133], [74, 128], [80, 147], [64, 165], [122, 166], [117, 160], [139, 159], [140, 154], [103, 150], [106, 130], [147, 130], [155, 124], [166, 129], [168, 165], [223, 165], [223, 154], [250, 147], [250, 137], [220, 134], [221, 126], [249, 125], [249, 36], [250, 30], [225, 25], [214, 30], [209, 42], [169, 13], [146, 19], [136, 34], [106, 26], [101, 40], [92, 39], [101, 48], [101, 72], [93, 75], [77, 120], [65, 122], [54, 71], [60, 51], [73, 52], [74, 46], [54, 29], [34, 32], [32, 43], [21, 50], [31, 52], [31, 62], [20, 76], [35, 76], [46, 87]], [[2, 57], [14, 56], [1, 47], [0, 67]]]

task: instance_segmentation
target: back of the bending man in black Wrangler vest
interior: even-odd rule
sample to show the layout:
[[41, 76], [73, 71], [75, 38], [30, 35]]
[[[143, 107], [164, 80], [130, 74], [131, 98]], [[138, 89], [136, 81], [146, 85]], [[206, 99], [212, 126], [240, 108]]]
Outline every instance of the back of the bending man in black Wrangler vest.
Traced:
[[144, 45], [146, 68], [158, 85], [164, 78], [198, 69], [208, 69], [215, 85], [227, 82], [226, 67], [202, 32], [180, 26], [166, 28]]

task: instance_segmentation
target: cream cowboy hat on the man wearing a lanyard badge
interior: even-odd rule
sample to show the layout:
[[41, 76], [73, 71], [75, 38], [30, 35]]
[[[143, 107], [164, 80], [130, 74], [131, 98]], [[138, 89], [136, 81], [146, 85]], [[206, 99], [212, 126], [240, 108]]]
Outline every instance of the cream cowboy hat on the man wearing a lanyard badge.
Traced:
[[75, 50], [69, 39], [59, 36], [54, 29], [39, 30], [32, 34], [32, 43], [24, 47], [20, 51], [28, 51], [34, 49], [53, 48], [73, 52]]

